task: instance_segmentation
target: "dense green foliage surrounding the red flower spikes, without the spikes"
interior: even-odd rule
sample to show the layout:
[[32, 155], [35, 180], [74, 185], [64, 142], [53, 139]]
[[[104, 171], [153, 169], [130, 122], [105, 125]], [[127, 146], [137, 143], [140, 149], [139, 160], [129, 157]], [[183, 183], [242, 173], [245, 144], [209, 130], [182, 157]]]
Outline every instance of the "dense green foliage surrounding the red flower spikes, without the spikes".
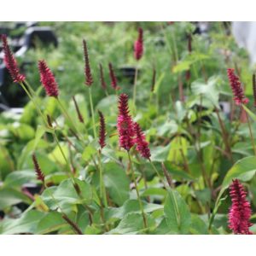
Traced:
[[[0, 220], [0, 234], [77, 233], [63, 214], [83, 234], [230, 234], [227, 188], [234, 177], [245, 184], [256, 212], [256, 156], [244, 119], [248, 113], [256, 137], [252, 70], [246, 52], [237, 48], [222, 23], [211, 23], [205, 35], [192, 34], [195, 27], [189, 22], [41, 25], [54, 27], [59, 47], [31, 49], [26, 60], [35, 65], [27, 70], [26, 77], [38, 92], [38, 106], [44, 116], [51, 117], [55, 128], [44, 125], [33, 102], [26, 104], [21, 116], [1, 113], [0, 211], [4, 217]], [[135, 61], [133, 43], [138, 26], [144, 30], [145, 51], [143, 58]], [[193, 38], [191, 53], [188, 35]], [[98, 137], [93, 134], [88, 87], [84, 85], [83, 38], [87, 40], [94, 78], [91, 90], [96, 131], [96, 110], [102, 111], [107, 125], [107, 146], [100, 154]], [[47, 61], [54, 71], [60, 100], [72, 123], [55, 98], [45, 96], [39, 83], [38, 59]], [[145, 131], [151, 161], [160, 172], [158, 177], [154, 166], [131, 148], [147, 228], [134, 189], [131, 163], [125, 150], [119, 148], [118, 98], [108, 78], [109, 61], [119, 80], [118, 94], [130, 96], [131, 113]], [[108, 84], [107, 94], [101, 88], [99, 63]], [[136, 113], [132, 108], [133, 77], [125, 78], [120, 67], [138, 67]], [[232, 101], [227, 67], [236, 67], [246, 88], [250, 99], [247, 112]], [[190, 78], [186, 78], [188, 71]], [[72, 96], [76, 97], [84, 124], [79, 122]], [[231, 114], [224, 113], [219, 102], [226, 102]], [[73, 126], [82, 139], [74, 136], [70, 130]], [[36, 178], [33, 153], [46, 176], [47, 188]], [[107, 203], [101, 196], [101, 166]], [[163, 166], [172, 178], [172, 186], [166, 182]], [[255, 229], [253, 224], [251, 230]]]

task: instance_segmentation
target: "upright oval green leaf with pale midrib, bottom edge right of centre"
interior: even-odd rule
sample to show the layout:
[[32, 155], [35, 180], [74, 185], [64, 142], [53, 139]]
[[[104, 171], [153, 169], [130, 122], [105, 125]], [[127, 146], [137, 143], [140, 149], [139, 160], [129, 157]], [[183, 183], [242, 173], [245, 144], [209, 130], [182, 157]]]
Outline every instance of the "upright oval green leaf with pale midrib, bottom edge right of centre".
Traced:
[[169, 190], [165, 203], [166, 224], [175, 234], [187, 234], [191, 221], [189, 207], [176, 190]]

